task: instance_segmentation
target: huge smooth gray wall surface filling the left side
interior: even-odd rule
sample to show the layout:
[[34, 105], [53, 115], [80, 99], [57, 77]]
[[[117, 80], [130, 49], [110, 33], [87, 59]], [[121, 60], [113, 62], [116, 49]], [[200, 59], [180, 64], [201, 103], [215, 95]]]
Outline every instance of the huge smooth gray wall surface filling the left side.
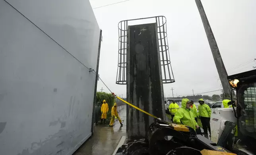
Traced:
[[71, 155], [91, 136], [99, 34], [89, 0], [0, 0], [1, 155]]

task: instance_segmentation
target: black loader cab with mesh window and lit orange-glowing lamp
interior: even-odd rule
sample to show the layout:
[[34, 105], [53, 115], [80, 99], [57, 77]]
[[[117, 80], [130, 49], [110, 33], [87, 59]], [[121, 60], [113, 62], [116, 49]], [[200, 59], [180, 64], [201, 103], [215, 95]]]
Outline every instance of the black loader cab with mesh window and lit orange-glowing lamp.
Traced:
[[[227, 77], [236, 91], [238, 136], [251, 147], [256, 146], [256, 70]], [[232, 95], [231, 95], [232, 96]], [[249, 143], [249, 144], [248, 144]]]

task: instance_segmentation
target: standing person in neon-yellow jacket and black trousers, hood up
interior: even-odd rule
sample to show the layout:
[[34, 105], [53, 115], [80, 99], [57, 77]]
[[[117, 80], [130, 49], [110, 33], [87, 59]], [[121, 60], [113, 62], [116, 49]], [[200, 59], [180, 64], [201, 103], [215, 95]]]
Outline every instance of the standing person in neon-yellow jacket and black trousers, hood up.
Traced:
[[204, 104], [203, 98], [200, 98], [198, 100], [199, 106], [198, 106], [198, 116], [201, 119], [204, 132], [203, 134], [208, 135], [207, 129], [209, 130], [210, 136], [211, 136], [211, 127], [210, 127], [210, 118], [211, 118], [211, 109], [207, 104]]

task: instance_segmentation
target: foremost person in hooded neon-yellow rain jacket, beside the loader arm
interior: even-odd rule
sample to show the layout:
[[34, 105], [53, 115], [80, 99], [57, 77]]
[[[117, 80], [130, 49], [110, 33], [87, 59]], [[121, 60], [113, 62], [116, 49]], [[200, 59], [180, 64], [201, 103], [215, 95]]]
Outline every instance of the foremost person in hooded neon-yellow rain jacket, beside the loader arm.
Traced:
[[196, 128], [198, 128], [199, 126], [196, 123], [193, 112], [191, 111], [190, 102], [191, 101], [188, 100], [188, 98], [182, 99], [181, 108], [179, 108], [178, 111], [175, 113], [173, 122], [175, 124], [187, 125], [189, 127], [192, 127], [194, 130], [196, 130]]

